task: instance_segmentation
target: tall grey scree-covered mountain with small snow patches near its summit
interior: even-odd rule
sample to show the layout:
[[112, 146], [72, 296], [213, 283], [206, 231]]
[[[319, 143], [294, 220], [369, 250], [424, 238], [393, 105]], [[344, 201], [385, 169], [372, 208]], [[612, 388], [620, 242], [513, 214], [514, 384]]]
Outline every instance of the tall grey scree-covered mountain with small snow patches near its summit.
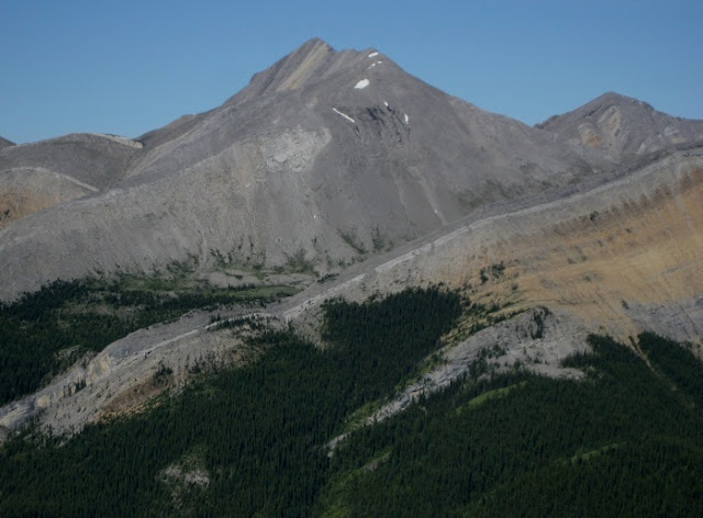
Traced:
[[215, 110], [137, 140], [69, 135], [0, 151], [0, 170], [19, 167], [99, 192], [0, 233], [2, 299], [97, 270], [207, 267], [217, 254], [250, 264], [302, 254], [325, 270], [614, 166], [376, 50], [313, 40]]

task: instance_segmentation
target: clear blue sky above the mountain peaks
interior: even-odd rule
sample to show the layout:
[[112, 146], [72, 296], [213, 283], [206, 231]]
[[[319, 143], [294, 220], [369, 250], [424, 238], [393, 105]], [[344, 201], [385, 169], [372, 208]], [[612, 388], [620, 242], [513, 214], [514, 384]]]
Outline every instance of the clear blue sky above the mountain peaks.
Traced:
[[703, 2], [9, 1], [0, 136], [136, 137], [209, 110], [319, 36], [527, 124], [605, 91], [703, 119]]

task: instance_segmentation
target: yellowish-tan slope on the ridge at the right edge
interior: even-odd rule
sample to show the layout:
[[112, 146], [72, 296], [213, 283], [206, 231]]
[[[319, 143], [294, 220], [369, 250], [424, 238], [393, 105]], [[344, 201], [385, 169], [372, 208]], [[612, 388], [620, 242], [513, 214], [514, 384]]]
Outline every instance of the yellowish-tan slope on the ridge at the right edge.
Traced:
[[[565, 306], [618, 334], [640, 330], [628, 312], [635, 304], [676, 306], [703, 295], [703, 169], [649, 193], [633, 185], [606, 210], [554, 223], [548, 211], [542, 215], [539, 228], [487, 248], [489, 282], [467, 270], [477, 295]], [[503, 262], [503, 274], [487, 275], [489, 262]]]

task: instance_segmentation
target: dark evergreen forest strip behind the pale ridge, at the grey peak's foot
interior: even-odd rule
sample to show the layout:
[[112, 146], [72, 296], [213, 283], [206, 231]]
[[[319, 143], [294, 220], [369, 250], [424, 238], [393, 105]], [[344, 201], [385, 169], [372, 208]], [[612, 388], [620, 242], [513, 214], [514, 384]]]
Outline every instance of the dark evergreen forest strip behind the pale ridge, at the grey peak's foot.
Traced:
[[86, 352], [101, 351], [136, 329], [193, 308], [260, 304], [292, 293], [289, 286], [170, 288], [124, 280], [55, 281], [12, 304], [0, 303], [0, 405], [36, 391]]

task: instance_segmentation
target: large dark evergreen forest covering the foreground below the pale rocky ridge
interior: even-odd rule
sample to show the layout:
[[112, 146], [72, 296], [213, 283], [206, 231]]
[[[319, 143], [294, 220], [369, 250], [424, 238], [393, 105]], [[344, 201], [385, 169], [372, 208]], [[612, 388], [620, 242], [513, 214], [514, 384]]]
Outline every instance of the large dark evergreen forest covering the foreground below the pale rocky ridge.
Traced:
[[[591, 337], [583, 381], [467, 378], [327, 441], [390, 395], [467, 304], [436, 289], [325, 308], [321, 350], [266, 334], [247, 367], [143, 414], [0, 449], [0, 516], [703, 516], [703, 365]], [[190, 477], [185, 474], [190, 474]]]

